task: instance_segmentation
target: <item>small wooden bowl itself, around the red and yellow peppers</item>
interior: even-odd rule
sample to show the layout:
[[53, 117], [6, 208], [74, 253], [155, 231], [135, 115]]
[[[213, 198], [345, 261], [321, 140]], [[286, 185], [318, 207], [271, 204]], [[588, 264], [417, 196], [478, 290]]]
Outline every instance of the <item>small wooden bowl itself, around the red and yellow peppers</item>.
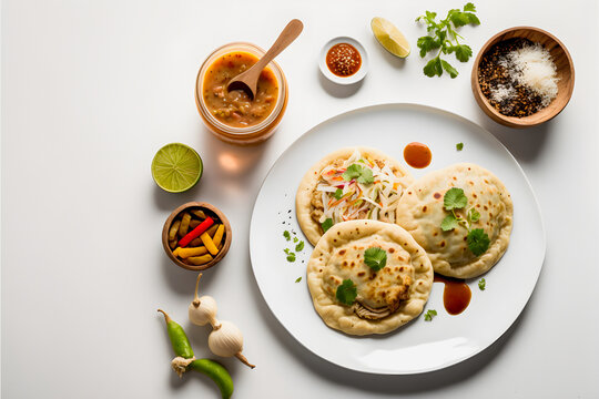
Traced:
[[[221, 223], [225, 226], [224, 235], [223, 235], [223, 239], [224, 239], [223, 247], [221, 248], [221, 250], [219, 250], [214, 259], [199, 266], [187, 265], [186, 263], [183, 263], [181, 259], [179, 259], [176, 256], [173, 255], [173, 250], [169, 246], [169, 231], [171, 229], [171, 225], [173, 224], [173, 221], [183, 211], [191, 209], [191, 208], [200, 208], [206, 212], [209, 216], [210, 214], [212, 214], [213, 216], [215, 215], [221, 221]], [[186, 268], [187, 270], [205, 270], [216, 265], [229, 252], [229, 248], [231, 247], [231, 238], [232, 238], [232, 231], [231, 231], [231, 225], [229, 224], [229, 219], [226, 218], [226, 216], [215, 206], [209, 203], [203, 203], [203, 202], [190, 202], [190, 203], [181, 205], [180, 207], [173, 211], [171, 216], [169, 216], [166, 222], [164, 222], [164, 227], [162, 228], [162, 246], [164, 247], [164, 252], [171, 258], [171, 260], [173, 260], [177, 266]]]

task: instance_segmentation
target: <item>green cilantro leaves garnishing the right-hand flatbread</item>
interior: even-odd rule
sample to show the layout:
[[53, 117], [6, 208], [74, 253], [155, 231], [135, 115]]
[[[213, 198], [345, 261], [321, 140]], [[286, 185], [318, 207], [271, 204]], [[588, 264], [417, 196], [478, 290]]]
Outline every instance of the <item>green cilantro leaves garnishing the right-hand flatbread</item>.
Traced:
[[456, 214], [456, 209], [463, 209], [466, 206], [468, 206], [468, 198], [464, 194], [464, 190], [449, 188], [443, 197], [443, 207], [451, 213], [443, 219], [441, 229], [449, 232], [460, 225], [464, 226], [468, 231], [466, 236], [468, 248], [475, 256], [480, 256], [489, 248], [490, 239], [483, 228], [471, 228], [473, 223], [480, 219], [480, 214], [474, 206], [466, 212], [466, 217]]

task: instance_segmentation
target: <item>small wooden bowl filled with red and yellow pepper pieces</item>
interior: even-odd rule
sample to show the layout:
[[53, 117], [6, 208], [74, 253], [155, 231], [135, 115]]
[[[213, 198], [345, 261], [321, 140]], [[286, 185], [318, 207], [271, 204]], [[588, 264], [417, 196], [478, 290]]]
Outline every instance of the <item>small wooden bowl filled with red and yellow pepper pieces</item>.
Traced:
[[176, 265], [205, 270], [216, 265], [231, 247], [231, 225], [209, 203], [190, 202], [173, 211], [162, 228], [162, 245]]

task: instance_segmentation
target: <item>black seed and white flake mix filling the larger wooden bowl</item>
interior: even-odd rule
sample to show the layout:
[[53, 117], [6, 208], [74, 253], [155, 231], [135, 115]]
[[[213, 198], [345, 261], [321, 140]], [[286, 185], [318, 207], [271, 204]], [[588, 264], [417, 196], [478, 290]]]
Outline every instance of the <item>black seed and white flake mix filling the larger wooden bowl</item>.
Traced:
[[483, 94], [506, 116], [529, 116], [549, 105], [558, 80], [549, 51], [522, 38], [495, 44], [478, 66]]

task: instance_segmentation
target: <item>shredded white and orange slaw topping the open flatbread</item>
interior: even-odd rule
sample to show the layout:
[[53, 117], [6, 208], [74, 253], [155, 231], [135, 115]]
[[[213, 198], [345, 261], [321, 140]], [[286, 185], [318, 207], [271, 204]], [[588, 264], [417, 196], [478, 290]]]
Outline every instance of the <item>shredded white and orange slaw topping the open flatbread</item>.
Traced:
[[[353, 164], [369, 168], [373, 183], [359, 183], [356, 178], [346, 181], [344, 172]], [[335, 193], [341, 190], [341, 197]], [[341, 166], [328, 165], [321, 172], [316, 191], [323, 201], [323, 215], [319, 222], [327, 218], [333, 224], [352, 219], [373, 219], [395, 223], [395, 211], [402, 196], [403, 187], [389, 165], [378, 164], [365, 157], [356, 150]]]

